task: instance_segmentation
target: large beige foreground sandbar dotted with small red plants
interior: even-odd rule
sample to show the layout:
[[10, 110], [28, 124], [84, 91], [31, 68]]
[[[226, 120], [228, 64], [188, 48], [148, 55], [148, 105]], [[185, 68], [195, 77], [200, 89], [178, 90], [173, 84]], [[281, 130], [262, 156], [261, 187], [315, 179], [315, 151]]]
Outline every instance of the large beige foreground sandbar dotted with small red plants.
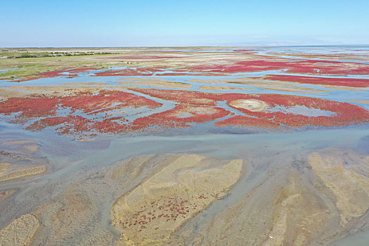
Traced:
[[115, 202], [112, 223], [126, 245], [163, 244], [195, 214], [223, 198], [241, 169], [242, 160], [219, 165], [202, 155], [178, 155]]

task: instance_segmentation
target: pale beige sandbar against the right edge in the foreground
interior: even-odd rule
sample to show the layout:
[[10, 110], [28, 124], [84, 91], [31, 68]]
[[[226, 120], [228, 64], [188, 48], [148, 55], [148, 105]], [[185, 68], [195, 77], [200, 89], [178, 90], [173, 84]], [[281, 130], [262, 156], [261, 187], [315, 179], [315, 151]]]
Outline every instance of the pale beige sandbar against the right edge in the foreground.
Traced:
[[[369, 167], [368, 159], [365, 160], [363, 165]], [[344, 159], [339, 155], [332, 157], [332, 155], [311, 153], [309, 164], [337, 198], [336, 205], [340, 211], [341, 226], [347, 224], [350, 219], [367, 212], [369, 209], [368, 174], [361, 174], [360, 170], [353, 165], [345, 164]]]

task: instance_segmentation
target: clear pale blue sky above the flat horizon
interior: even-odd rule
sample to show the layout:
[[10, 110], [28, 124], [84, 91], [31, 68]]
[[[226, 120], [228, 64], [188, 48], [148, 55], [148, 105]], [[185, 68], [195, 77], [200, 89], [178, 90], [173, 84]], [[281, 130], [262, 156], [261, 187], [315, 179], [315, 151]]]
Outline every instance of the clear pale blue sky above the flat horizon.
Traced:
[[369, 44], [368, 13], [368, 0], [0, 0], [0, 46]]

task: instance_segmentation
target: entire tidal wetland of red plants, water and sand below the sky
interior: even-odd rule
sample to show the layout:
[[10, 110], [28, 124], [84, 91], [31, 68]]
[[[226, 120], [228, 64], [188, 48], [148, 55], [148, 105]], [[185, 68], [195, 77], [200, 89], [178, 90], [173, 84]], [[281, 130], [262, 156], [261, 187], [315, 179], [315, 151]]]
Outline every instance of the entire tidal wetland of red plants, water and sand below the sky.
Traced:
[[81, 50], [0, 59], [0, 245], [369, 240], [368, 46]]

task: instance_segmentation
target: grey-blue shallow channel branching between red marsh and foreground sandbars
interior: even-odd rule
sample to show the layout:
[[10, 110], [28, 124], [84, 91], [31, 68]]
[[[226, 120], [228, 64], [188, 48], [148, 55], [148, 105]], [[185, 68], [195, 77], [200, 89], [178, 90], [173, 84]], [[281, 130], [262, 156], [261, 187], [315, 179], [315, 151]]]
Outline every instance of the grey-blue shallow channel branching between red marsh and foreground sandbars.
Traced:
[[[291, 165], [306, 166], [306, 155], [324, 148], [354, 150], [361, 153], [369, 137], [368, 129], [335, 129], [302, 131], [290, 134], [208, 134], [195, 136], [136, 136], [124, 138], [102, 138], [95, 142], [72, 141], [65, 136], [56, 136], [52, 131], [32, 133], [11, 124], [1, 123], [2, 140], [34, 140], [41, 144], [40, 156], [46, 157], [53, 172], [32, 181], [18, 181], [1, 184], [0, 189], [20, 188], [13, 207], [6, 207], [6, 216], [0, 226], [8, 224], [12, 217], [30, 212], [32, 208], [53, 198], [65, 187], [71, 185], [83, 172], [103, 170], [119, 160], [137, 155], [160, 153], [197, 153], [220, 159], [240, 158], [245, 160], [245, 174], [233, 187], [225, 200], [216, 202], [195, 218], [201, 225], [214, 214], [234, 205], [245, 197], [258, 183], [278, 169], [289, 169]], [[251, 172], [250, 172], [251, 170]], [[54, 187], [48, 190], [48, 187]], [[43, 193], [48, 190], [48, 192]], [[107, 190], [95, 190], [97, 194]], [[114, 197], [106, 193], [103, 200], [96, 195], [96, 203], [101, 209], [101, 226], [115, 233], [110, 226], [110, 206]], [[37, 197], [34, 200], [32, 197]], [[28, 202], [30, 206], [24, 207]], [[366, 245], [369, 231], [354, 234], [333, 245]], [[71, 241], [72, 242], [72, 241]]]

